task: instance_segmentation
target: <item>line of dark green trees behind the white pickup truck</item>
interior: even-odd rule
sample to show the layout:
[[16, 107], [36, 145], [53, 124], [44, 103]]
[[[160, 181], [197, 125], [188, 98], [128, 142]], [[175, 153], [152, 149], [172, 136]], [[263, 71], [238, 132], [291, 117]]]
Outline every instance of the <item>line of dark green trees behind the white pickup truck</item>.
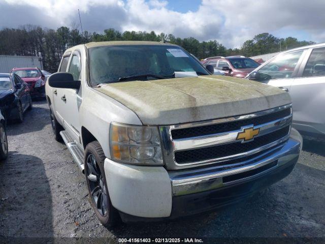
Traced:
[[210, 56], [245, 55], [283, 51], [295, 47], [313, 44], [311, 41], [298, 41], [296, 38], [277, 38], [269, 33], [256, 35], [247, 40], [241, 48], [226, 48], [216, 40], [200, 42], [193, 37], [179, 38], [172, 34], [155, 32], [119, 32], [113, 28], [104, 33], [81, 33], [78, 27], [61, 26], [54, 29], [25, 25], [20, 28], [3, 28], [0, 30], [0, 55], [42, 56], [44, 69], [56, 72], [61, 56], [69, 47], [99, 41], [165, 41], [177, 44], [199, 59]]

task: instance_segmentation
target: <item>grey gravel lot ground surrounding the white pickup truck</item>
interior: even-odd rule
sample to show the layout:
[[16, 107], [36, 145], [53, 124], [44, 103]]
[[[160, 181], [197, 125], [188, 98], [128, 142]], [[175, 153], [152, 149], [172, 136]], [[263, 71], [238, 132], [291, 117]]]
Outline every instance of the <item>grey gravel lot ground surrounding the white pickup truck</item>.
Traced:
[[0, 237], [325, 237], [325, 142], [304, 141], [294, 171], [267, 191], [218, 212], [104, 228], [90, 207], [84, 175], [52, 136], [45, 101], [23, 124], [8, 125], [0, 162]]

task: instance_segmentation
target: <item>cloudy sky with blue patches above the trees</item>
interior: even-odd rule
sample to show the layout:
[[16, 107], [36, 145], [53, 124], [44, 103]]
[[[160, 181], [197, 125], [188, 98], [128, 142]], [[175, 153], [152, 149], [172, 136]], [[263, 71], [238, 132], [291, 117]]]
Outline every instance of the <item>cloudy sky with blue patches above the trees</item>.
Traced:
[[264, 32], [325, 42], [325, 0], [0, 0], [0, 28], [71, 27], [78, 9], [89, 32], [153, 30], [228, 48]]

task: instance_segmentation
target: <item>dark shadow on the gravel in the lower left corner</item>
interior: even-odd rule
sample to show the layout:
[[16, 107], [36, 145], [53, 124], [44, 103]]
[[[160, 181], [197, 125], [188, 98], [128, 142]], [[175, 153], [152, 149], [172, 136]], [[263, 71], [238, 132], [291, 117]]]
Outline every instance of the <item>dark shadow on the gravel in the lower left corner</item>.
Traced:
[[0, 237], [52, 237], [52, 196], [42, 160], [10, 152], [0, 162]]

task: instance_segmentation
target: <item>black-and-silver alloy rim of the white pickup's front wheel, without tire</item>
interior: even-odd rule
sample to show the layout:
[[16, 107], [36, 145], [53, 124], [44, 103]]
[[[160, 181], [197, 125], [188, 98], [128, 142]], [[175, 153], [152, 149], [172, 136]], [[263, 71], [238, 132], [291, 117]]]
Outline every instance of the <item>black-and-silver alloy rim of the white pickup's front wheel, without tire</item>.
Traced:
[[86, 174], [90, 194], [92, 200], [95, 202], [97, 210], [101, 216], [106, 216], [108, 211], [108, 191], [105, 186], [104, 178], [101, 170], [96, 162], [95, 156], [89, 154], [87, 157]]

